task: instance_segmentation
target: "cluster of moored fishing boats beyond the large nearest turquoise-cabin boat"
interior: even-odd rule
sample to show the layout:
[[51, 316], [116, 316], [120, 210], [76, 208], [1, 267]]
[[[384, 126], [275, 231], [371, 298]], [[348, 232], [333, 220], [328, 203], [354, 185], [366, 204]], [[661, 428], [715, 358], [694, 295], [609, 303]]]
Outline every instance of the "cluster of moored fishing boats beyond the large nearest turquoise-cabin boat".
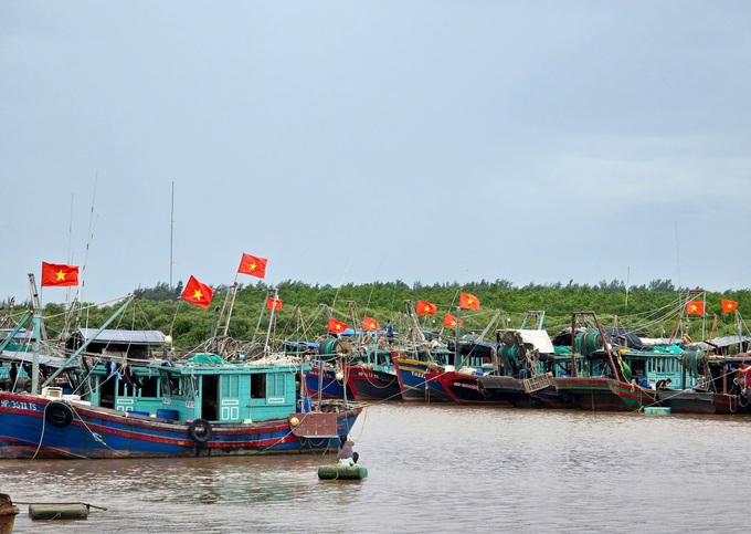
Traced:
[[[578, 327], [577, 316], [593, 327]], [[335, 342], [332, 350], [329, 342], [318, 345], [320, 359], [307, 371], [306, 386], [324, 398], [360, 401], [749, 412], [751, 354], [723, 354], [730, 343], [744, 348], [748, 337], [642, 339], [625, 328], [603, 328], [592, 312], [574, 314], [572, 327], [552, 339], [539, 325], [499, 329], [493, 344], [467, 335], [458, 350], [456, 341], [442, 343], [425, 328], [387, 339], [385, 346], [383, 338], [366, 337], [367, 343]]]

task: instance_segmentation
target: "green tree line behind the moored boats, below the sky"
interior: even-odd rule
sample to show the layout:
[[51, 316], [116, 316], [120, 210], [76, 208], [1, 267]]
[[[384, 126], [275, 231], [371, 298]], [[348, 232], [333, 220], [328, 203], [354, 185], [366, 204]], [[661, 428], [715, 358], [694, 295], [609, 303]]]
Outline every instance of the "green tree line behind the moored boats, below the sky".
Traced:
[[[225, 284], [213, 286], [215, 293], [208, 310], [180, 301], [183, 283], [170, 287], [166, 282], [154, 286], [138, 286], [134, 290], [135, 304], [110, 327], [133, 329], [158, 329], [172, 334], [178, 347], [197, 345], [212, 335], [220, 318], [221, 307], [229, 294]], [[269, 316], [265, 310], [265, 299], [269, 285], [260, 280], [255, 284], [239, 285], [233, 306], [232, 321], [228, 334], [236, 339], [251, 339], [256, 332], [268, 331]], [[340, 287], [330, 284], [309, 284], [287, 280], [275, 285], [282, 310], [275, 312], [272, 332], [277, 338], [311, 339], [325, 335], [329, 314], [351, 326], [359, 327], [359, 318], [364, 315], [376, 318], [381, 325], [391, 320], [398, 329], [409, 326], [405, 301], [427, 301], [437, 305], [437, 314], [421, 316], [421, 325], [441, 329], [446, 313], [455, 315], [458, 293], [467, 292], [477, 296], [479, 312], [462, 311], [463, 332], [489, 332], [499, 327], [519, 327], [529, 311], [544, 311], [544, 328], [551, 334], [571, 324], [571, 313], [594, 311], [604, 326], [633, 327], [639, 335], [649, 337], [669, 336], [680, 310], [680, 299], [686, 299], [687, 290], [676, 287], [671, 280], [653, 280], [648, 284], [631, 285], [620, 280], [596, 284], [568, 283], [537, 284], [530, 282], [517, 286], [508, 280], [459, 283], [408, 284], [394, 282], [349, 283]], [[627, 300], [626, 300], [627, 297]], [[702, 297], [700, 297], [702, 299]], [[741, 315], [751, 311], [751, 290], [728, 290], [707, 293], [707, 334], [717, 315], [716, 335], [736, 332], [734, 315], [722, 314], [721, 300], [739, 303]], [[357, 303], [348, 305], [348, 302]], [[6, 303], [7, 304], [7, 303]], [[293, 317], [295, 306], [299, 314]], [[4, 307], [4, 306], [1, 306]], [[30, 307], [25, 302], [17, 304], [17, 312]], [[351, 311], [350, 311], [351, 307]], [[117, 304], [103, 307], [88, 307], [81, 312], [80, 325], [97, 327], [112, 315]], [[258, 322], [262, 308], [263, 318]], [[496, 312], [500, 311], [499, 314]], [[0, 312], [2, 313], [2, 312]], [[46, 304], [43, 311], [47, 331], [54, 335], [63, 328], [64, 305]], [[701, 337], [701, 317], [685, 316], [681, 326], [691, 337]], [[223, 332], [223, 329], [222, 329]], [[453, 329], [445, 328], [453, 335]]]

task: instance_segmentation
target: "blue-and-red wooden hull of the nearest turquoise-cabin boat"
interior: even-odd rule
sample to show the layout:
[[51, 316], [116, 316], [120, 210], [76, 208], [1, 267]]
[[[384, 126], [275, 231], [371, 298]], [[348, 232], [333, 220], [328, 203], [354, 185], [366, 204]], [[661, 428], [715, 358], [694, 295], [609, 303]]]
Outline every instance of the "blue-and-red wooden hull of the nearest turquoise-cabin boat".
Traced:
[[[45, 419], [54, 399], [0, 392], [0, 458], [163, 458], [308, 453], [336, 450], [361, 407], [337, 413], [337, 437], [293, 433], [292, 415], [248, 425], [212, 423], [213, 437], [199, 443], [186, 421], [168, 421], [71, 402], [73, 420], [61, 428]], [[296, 413], [299, 420], [309, 417]]]

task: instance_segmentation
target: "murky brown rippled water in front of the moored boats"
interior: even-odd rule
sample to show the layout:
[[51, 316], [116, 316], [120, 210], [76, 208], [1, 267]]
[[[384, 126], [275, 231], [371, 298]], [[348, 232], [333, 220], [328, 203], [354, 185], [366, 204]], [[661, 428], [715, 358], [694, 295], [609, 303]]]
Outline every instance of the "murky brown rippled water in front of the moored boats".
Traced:
[[2, 460], [0, 491], [109, 509], [87, 522], [22, 514], [19, 533], [665, 533], [748, 523], [745, 416], [387, 404], [360, 417], [360, 433], [364, 481], [319, 481], [332, 454]]

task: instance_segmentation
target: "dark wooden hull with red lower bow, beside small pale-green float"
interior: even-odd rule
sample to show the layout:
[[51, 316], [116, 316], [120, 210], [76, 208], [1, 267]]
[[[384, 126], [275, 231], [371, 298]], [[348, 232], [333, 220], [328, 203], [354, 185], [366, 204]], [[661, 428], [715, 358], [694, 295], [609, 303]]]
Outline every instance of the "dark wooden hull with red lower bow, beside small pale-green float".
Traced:
[[633, 411], [656, 402], [655, 391], [606, 377], [558, 377], [556, 389], [585, 411]]

